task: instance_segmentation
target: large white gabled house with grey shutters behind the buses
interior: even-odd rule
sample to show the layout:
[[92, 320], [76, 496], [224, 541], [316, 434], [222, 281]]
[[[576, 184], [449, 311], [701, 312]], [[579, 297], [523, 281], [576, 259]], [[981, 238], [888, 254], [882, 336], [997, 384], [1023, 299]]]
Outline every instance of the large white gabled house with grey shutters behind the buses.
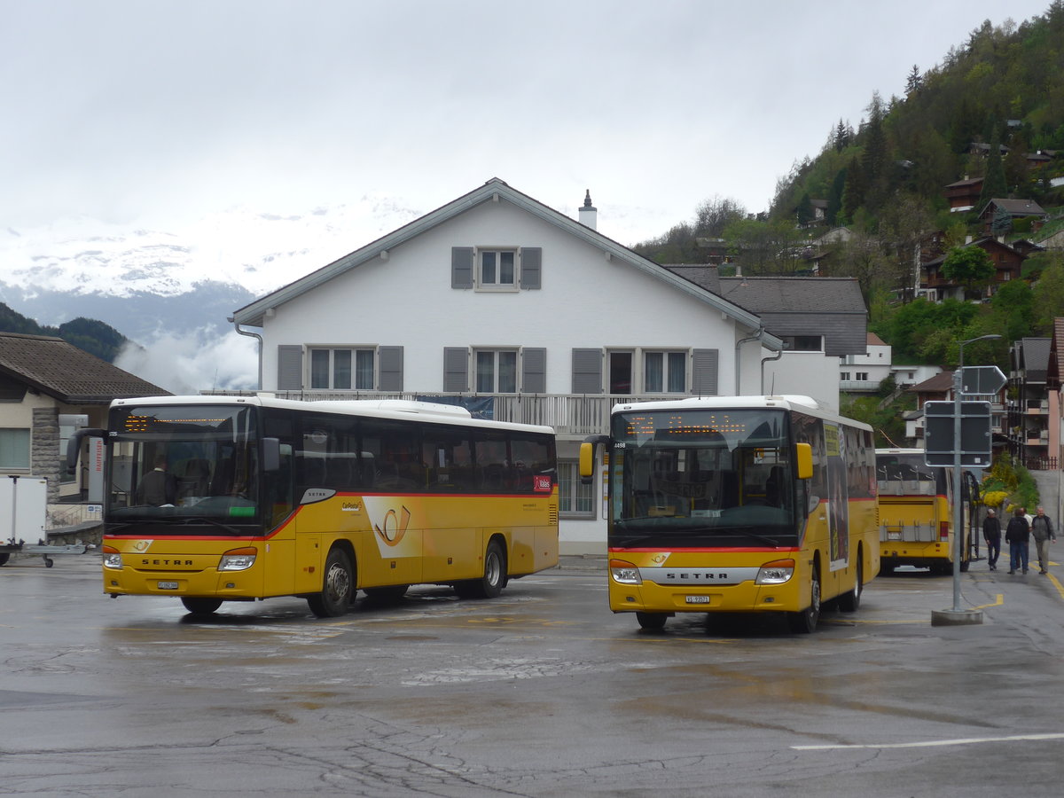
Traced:
[[[561, 550], [602, 551], [602, 483], [580, 484], [580, 442], [608, 429], [617, 401], [761, 394], [763, 360], [784, 342], [750, 309], [599, 233], [589, 194], [579, 216], [493, 179], [230, 320], [260, 338], [264, 392], [423, 398], [553, 427]], [[817, 386], [807, 376], [776, 388]]]

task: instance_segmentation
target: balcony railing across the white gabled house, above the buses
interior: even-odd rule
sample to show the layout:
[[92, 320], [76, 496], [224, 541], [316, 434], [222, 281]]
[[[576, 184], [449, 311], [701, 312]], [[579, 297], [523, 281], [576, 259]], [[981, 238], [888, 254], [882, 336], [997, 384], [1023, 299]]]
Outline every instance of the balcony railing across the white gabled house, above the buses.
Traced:
[[485, 403], [484, 418], [496, 421], [538, 423], [553, 427], [562, 436], [583, 437], [599, 435], [610, 430], [610, 411], [621, 402], [661, 401], [668, 398], [684, 398], [670, 395], [628, 396], [628, 395], [485, 395], [402, 392], [384, 394], [353, 390], [204, 390], [203, 396], [271, 396], [278, 399], [298, 401], [345, 401], [354, 399], [408, 399], [445, 404], [460, 403], [459, 399], [480, 400]]

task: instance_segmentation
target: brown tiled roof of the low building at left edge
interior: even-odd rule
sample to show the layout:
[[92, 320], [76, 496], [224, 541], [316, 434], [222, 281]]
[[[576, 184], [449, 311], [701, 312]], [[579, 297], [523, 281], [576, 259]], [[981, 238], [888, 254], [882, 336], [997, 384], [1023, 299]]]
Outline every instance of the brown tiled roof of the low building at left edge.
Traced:
[[0, 378], [21, 382], [67, 404], [168, 395], [63, 338], [0, 333]]

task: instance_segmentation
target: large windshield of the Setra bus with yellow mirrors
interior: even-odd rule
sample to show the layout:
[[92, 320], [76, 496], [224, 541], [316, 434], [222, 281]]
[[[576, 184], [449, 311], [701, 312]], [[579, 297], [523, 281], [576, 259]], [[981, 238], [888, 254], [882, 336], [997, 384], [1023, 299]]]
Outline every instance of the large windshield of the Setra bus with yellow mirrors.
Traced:
[[796, 544], [805, 496], [785, 411], [618, 413], [613, 438], [611, 545]]

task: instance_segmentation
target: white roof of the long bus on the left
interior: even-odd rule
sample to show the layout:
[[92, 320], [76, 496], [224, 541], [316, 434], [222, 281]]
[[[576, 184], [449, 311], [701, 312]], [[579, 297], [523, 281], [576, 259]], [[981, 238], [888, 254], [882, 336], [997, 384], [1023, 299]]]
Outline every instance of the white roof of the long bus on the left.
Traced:
[[468, 410], [454, 404], [439, 402], [420, 402], [409, 399], [350, 399], [299, 401], [296, 399], [277, 399], [267, 396], [142, 396], [131, 399], [115, 399], [112, 408], [130, 408], [139, 405], [250, 405], [255, 408], [278, 408], [301, 413], [339, 413], [343, 415], [372, 416], [373, 418], [393, 418], [410, 420], [416, 417], [419, 421], [433, 423], [452, 423], [462, 427], [484, 427], [494, 429], [521, 430], [525, 432], [542, 432], [550, 435], [554, 430], [550, 427], [513, 421], [495, 421], [473, 418]]

